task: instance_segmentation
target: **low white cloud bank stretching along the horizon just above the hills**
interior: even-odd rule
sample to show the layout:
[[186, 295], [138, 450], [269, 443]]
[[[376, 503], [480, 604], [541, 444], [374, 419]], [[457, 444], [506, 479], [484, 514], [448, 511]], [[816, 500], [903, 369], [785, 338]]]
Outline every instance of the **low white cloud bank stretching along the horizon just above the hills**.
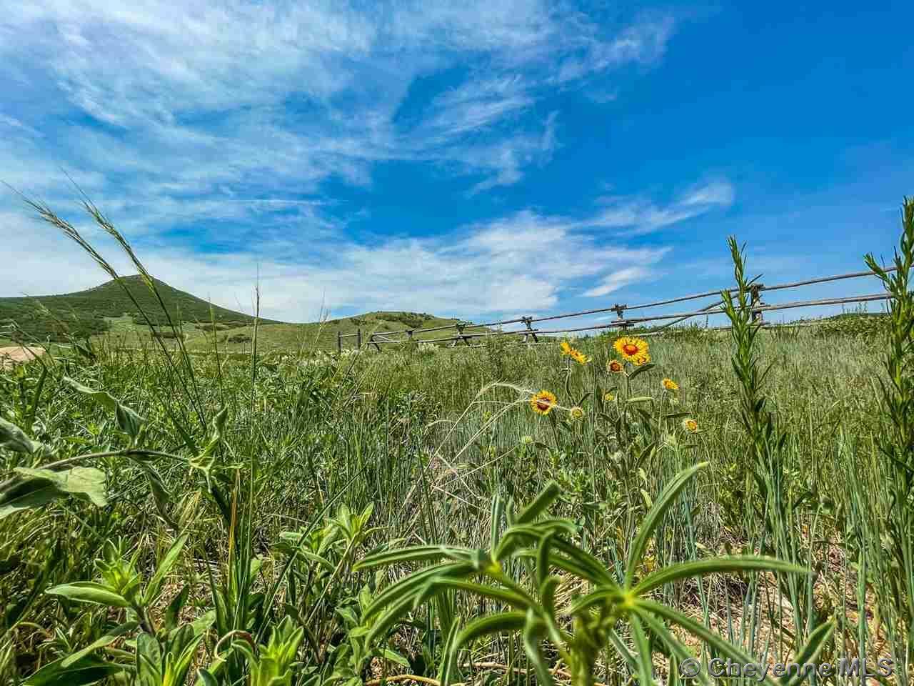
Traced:
[[[48, 227], [16, 214], [0, 217], [0, 223], [25, 237], [8, 258], [23, 269], [0, 273], [0, 293], [69, 292], [107, 278]], [[103, 254], [120, 272], [133, 273], [107, 237], [83, 223], [80, 230], [105, 247]], [[572, 221], [529, 211], [440, 239], [392, 239], [374, 247], [337, 241], [319, 253], [303, 253], [303, 262], [282, 259], [300, 253], [303, 242], [267, 244], [259, 252], [199, 254], [168, 245], [138, 252], [157, 278], [232, 308], [250, 302], [259, 274], [263, 315], [290, 321], [314, 320], [324, 307], [455, 316], [546, 310], [581, 280], [600, 278], [607, 270], [631, 273], [667, 252], [662, 246], [602, 247]]]

